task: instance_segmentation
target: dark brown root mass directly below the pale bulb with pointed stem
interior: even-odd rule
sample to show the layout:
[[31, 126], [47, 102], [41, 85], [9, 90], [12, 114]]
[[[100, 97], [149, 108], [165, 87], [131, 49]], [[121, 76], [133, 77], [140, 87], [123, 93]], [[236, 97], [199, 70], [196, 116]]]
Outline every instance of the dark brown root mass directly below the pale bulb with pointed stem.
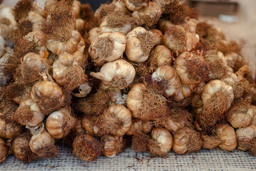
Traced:
[[85, 115], [101, 115], [111, 101], [111, 91], [99, 89], [97, 93], [81, 100], [79, 109]]

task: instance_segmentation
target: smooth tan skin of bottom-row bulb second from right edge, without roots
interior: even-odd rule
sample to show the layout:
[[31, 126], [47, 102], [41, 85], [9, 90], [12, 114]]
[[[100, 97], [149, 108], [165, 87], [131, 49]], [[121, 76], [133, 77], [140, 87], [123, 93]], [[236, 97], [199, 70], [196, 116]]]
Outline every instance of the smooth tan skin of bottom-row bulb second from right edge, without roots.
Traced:
[[234, 150], [237, 147], [237, 138], [235, 135], [235, 130], [228, 124], [218, 124], [215, 128], [215, 133], [217, 137], [221, 138], [222, 143], [220, 148], [222, 150]]

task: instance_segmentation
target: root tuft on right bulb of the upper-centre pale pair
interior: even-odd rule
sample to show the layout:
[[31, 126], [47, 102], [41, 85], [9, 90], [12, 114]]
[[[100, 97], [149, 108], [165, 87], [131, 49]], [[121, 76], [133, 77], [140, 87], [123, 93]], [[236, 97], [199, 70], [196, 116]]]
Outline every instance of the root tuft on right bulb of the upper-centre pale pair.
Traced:
[[155, 46], [155, 38], [153, 34], [148, 32], [146, 33], [138, 33], [138, 39], [140, 40], [140, 48], [144, 52], [144, 55], [148, 55], [152, 48]]

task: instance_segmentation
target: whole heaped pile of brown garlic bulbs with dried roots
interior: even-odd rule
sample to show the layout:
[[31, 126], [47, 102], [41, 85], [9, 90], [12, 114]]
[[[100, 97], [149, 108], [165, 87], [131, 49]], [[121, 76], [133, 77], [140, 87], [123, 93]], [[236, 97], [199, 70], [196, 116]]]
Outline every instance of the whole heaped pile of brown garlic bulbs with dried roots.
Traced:
[[86, 161], [129, 144], [156, 157], [256, 154], [256, 87], [240, 46], [184, 1], [115, 0], [93, 16], [79, 1], [21, 0], [6, 11], [0, 162], [56, 157], [58, 145]]

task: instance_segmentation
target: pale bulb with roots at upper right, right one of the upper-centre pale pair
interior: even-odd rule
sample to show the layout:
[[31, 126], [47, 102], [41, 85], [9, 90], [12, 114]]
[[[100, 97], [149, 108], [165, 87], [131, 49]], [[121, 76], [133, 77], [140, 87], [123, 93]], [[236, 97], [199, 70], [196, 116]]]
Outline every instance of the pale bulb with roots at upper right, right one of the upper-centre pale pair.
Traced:
[[155, 46], [153, 33], [143, 27], [136, 27], [126, 35], [126, 38], [127, 58], [136, 63], [147, 61], [150, 51]]

